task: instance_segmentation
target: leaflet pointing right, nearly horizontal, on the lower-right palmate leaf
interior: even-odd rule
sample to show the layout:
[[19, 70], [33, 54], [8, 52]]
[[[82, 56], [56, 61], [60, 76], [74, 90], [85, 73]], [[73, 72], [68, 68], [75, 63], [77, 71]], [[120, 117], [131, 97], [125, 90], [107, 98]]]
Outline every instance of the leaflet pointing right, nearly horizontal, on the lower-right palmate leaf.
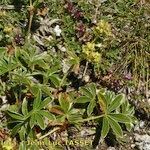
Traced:
[[111, 118], [113, 118], [114, 120], [116, 120], [117, 122], [121, 122], [121, 123], [130, 123], [131, 119], [129, 116], [125, 115], [125, 114], [109, 114], [109, 116]]

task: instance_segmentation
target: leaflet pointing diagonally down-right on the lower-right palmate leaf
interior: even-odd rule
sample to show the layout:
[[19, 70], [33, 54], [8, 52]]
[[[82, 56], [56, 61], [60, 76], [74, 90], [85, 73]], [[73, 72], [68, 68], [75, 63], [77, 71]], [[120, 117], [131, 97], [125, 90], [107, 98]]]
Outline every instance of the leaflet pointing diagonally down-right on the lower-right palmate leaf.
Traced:
[[116, 136], [122, 137], [123, 136], [123, 131], [117, 121], [112, 119], [110, 116], [108, 116], [108, 122]]

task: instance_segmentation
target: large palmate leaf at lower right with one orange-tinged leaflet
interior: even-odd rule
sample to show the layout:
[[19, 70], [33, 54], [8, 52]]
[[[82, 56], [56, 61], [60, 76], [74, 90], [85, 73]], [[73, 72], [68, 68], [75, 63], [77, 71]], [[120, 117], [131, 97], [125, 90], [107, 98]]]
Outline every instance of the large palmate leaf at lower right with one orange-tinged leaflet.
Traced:
[[133, 112], [125, 113], [121, 109], [122, 106], [125, 106], [124, 103], [128, 103], [126, 102], [124, 95], [115, 96], [114, 93], [111, 92], [99, 92], [98, 102], [102, 112], [104, 113], [101, 133], [102, 137], [105, 138], [107, 136], [110, 127], [116, 136], [122, 137], [123, 132], [119, 123], [130, 124], [132, 126], [135, 121], [131, 118]]

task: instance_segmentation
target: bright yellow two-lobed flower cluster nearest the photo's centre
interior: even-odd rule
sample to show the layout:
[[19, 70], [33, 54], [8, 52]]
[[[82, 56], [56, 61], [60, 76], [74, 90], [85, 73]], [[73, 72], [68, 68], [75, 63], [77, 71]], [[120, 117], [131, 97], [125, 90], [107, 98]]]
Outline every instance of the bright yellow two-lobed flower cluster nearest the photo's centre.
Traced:
[[95, 43], [88, 42], [82, 46], [82, 52], [86, 55], [86, 59], [90, 62], [99, 63], [101, 54], [96, 52]]

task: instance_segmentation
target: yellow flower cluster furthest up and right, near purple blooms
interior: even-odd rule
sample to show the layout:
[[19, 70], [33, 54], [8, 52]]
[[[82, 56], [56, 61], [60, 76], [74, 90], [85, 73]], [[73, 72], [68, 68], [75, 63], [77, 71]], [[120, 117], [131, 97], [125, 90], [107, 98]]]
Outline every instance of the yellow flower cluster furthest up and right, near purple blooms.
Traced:
[[100, 20], [100, 22], [97, 24], [95, 28], [96, 32], [100, 34], [105, 34], [106, 36], [111, 36], [111, 26], [110, 24], [105, 20]]

